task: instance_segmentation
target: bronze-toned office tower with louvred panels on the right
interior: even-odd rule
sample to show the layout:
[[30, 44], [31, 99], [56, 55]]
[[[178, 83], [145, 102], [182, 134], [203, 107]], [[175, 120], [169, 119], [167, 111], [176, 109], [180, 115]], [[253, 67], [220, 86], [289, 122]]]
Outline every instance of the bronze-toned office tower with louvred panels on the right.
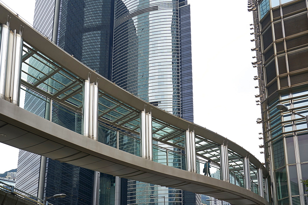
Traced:
[[[308, 135], [306, 119], [276, 108], [308, 114], [308, 17], [305, 0], [252, 0], [263, 125], [265, 165], [271, 174], [271, 202], [307, 204]], [[262, 145], [261, 145], [262, 147]]]

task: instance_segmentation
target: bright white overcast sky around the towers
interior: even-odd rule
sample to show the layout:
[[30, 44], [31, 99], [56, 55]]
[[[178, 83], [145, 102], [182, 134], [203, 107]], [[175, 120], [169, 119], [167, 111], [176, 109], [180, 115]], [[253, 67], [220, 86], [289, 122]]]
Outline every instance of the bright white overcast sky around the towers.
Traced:
[[[1, 0], [30, 24], [35, 0]], [[251, 61], [247, 1], [188, 0], [191, 5], [195, 123], [243, 146], [264, 162]], [[0, 173], [17, 168], [18, 149], [0, 143]]]

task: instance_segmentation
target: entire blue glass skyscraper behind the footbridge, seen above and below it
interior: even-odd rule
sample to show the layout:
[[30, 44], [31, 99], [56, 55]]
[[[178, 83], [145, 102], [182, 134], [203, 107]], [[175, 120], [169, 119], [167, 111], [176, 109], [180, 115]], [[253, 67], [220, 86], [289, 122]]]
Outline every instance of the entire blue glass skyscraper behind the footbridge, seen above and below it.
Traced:
[[[193, 122], [190, 7], [187, 0], [37, 0], [34, 27], [107, 79], [153, 105]], [[36, 112], [31, 102], [31, 97], [26, 96], [26, 109]], [[40, 105], [48, 106], [48, 103]], [[52, 109], [58, 109], [58, 115], [53, 116], [52, 121], [76, 131], [74, 122], [81, 121], [75, 118], [80, 116], [67, 114], [69, 111], [61, 105]], [[45, 113], [41, 115], [49, 118]], [[102, 141], [112, 143], [107, 142], [112, 130], [99, 129], [106, 136]], [[41, 197], [54, 192], [71, 193], [71, 197], [60, 199], [58, 203], [91, 204], [92, 198], [96, 198], [93, 171], [25, 151], [20, 151], [19, 159], [20, 174], [29, 168], [35, 170], [30, 185], [26, 183], [29, 179], [26, 175], [17, 182], [23, 190]], [[29, 161], [31, 165], [26, 164]], [[130, 203], [128, 194], [132, 196], [133, 193], [136, 194], [133, 203], [142, 203], [151, 194], [165, 194], [177, 204], [196, 203], [196, 194], [191, 192], [127, 182], [101, 173], [99, 204], [115, 203], [119, 182], [121, 204]], [[155, 202], [155, 199], [148, 202]]]

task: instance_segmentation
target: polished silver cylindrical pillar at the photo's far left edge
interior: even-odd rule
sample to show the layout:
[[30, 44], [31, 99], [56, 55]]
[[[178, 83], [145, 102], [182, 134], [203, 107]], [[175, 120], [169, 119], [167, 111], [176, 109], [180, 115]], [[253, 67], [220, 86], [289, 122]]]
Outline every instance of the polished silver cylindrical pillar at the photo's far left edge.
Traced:
[[9, 55], [10, 28], [0, 25], [0, 98], [5, 99], [6, 68]]

